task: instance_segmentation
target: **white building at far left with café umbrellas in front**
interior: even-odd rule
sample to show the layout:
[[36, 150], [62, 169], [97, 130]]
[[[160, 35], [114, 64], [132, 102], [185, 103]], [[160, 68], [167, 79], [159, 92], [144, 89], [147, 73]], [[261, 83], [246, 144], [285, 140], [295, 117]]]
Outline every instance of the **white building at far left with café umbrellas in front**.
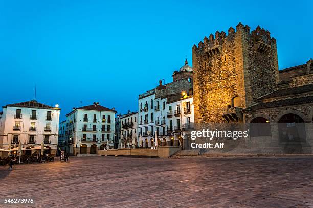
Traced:
[[[60, 108], [36, 100], [9, 104], [3, 107], [0, 124], [0, 146], [3, 149], [18, 146], [31, 149], [41, 146], [48, 148], [47, 154], [56, 154]], [[31, 154], [31, 150], [24, 154]]]

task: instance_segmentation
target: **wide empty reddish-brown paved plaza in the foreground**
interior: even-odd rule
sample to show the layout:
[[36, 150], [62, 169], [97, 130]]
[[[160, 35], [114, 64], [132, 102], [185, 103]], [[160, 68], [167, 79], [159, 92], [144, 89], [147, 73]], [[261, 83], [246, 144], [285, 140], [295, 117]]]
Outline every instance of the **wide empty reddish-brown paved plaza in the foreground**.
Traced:
[[1, 207], [313, 207], [313, 157], [70, 157], [7, 169]]

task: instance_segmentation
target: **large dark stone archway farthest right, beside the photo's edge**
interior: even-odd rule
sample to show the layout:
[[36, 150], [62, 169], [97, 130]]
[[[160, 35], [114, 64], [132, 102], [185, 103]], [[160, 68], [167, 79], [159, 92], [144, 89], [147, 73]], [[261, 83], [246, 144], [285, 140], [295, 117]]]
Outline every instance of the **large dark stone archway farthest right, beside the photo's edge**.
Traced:
[[304, 120], [296, 114], [283, 115], [278, 120], [279, 142], [286, 153], [302, 153], [301, 142], [305, 142]]

